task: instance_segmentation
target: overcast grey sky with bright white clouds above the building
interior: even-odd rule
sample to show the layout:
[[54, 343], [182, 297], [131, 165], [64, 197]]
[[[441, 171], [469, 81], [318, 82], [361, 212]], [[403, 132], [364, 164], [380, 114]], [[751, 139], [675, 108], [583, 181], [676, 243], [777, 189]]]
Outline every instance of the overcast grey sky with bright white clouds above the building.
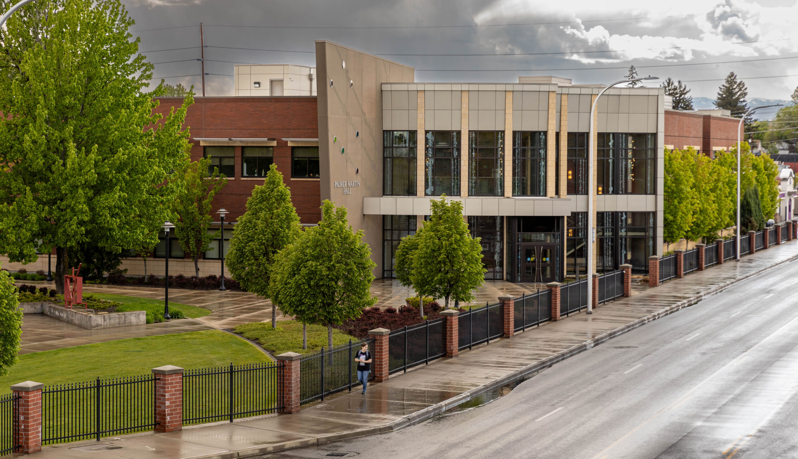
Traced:
[[[689, 81], [694, 97], [714, 98], [721, 81], [697, 80], [722, 79], [730, 71], [745, 79], [749, 99], [789, 99], [798, 85], [796, 0], [123, 2], [149, 60], [182, 61], [157, 64], [156, 77], [197, 75], [168, 78], [170, 83], [199, 86], [199, 61], [192, 59], [200, 51], [197, 25], [206, 24], [205, 72], [219, 74], [207, 77], [207, 95], [233, 93], [232, 77], [223, 75], [232, 75], [234, 64], [219, 61], [314, 65], [318, 39], [412, 65], [416, 81], [511, 82], [519, 75], [557, 75], [575, 83], [606, 83], [624, 77], [634, 64], [641, 75]], [[418, 55], [441, 53], [527, 55]], [[684, 65], [721, 61], [746, 62]], [[773, 75], [790, 77], [747, 79]]]

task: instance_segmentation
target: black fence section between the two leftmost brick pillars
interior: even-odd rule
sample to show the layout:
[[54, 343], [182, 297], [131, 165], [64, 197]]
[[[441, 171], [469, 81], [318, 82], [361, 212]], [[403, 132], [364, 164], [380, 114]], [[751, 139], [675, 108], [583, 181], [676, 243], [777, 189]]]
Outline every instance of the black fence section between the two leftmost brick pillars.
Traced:
[[146, 374], [45, 386], [42, 445], [152, 429], [155, 380]]

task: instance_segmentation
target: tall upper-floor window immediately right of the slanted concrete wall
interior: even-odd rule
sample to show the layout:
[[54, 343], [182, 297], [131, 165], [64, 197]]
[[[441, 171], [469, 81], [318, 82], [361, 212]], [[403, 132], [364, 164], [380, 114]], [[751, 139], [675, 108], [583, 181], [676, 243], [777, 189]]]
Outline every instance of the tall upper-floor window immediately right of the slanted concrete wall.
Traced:
[[416, 196], [416, 137], [416, 131], [383, 131], [383, 195]]

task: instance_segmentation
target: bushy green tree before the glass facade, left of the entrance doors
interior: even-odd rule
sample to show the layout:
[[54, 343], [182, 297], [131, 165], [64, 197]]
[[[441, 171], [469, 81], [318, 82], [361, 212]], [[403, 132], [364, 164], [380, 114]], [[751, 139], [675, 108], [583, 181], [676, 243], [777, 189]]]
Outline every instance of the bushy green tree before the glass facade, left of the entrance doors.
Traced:
[[449, 299], [472, 301], [484, 282], [482, 246], [463, 220], [463, 203], [441, 196], [430, 207], [413, 257], [413, 287], [422, 296], [444, 298], [448, 309]]

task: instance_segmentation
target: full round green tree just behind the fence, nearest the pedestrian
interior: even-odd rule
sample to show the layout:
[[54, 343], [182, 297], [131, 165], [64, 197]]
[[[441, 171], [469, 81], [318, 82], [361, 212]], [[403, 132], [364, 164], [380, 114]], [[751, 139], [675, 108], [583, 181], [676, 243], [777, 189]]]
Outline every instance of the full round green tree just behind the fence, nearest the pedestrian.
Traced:
[[377, 303], [370, 293], [377, 265], [362, 239], [363, 231], [353, 232], [346, 220], [346, 208], [324, 200], [322, 221], [283, 248], [272, 267], [272, 302], [302, 323], [326, 325], [328, 346], [333, 324], [356, 319]]

